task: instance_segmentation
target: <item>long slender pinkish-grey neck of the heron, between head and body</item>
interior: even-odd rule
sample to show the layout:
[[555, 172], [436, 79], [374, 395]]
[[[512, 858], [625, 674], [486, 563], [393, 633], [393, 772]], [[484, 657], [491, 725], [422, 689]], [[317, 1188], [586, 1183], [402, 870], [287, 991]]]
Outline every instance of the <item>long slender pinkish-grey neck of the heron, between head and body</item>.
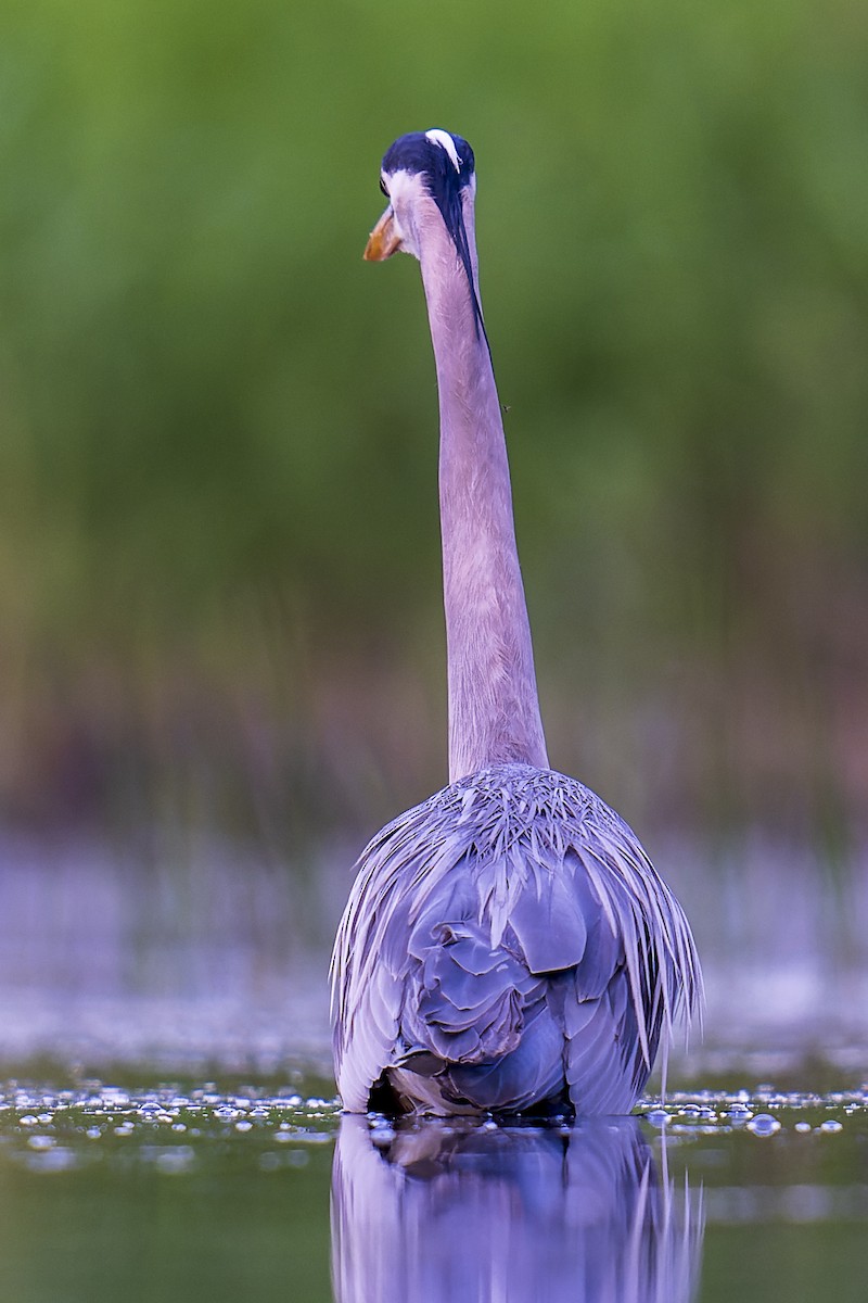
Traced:
[[[470, 205], [466, 219], [475, 271]], [[466, 272], [436, 222], [422, 276], [440, 392], [449, 779], [497, 762], [548, 767], [491, 354]]]

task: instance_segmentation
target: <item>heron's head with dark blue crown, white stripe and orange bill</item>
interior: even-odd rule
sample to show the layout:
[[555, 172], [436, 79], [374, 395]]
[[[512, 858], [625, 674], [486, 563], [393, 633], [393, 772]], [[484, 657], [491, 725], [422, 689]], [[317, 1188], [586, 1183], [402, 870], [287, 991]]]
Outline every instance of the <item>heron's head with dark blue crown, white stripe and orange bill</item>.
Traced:
[[475, 185], [474, 151], [461, 136], [432, 128], [398, 137], [380, 172], [389, 206], [371, 232], [364, 257], [383, 262], [401, 250], [420, 258], [423, 214], [433, 201], [470, 271], [463, 199], [467, 193], [472, 198]]

